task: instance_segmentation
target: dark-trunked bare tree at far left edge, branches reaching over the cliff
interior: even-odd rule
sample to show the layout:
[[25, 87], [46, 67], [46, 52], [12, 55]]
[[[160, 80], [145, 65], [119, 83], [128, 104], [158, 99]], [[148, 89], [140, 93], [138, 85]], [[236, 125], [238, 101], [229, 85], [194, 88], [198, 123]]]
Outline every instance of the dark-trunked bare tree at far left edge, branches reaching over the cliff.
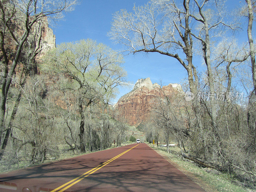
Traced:
[[[55, 0], [50, 4], [44, 1], [1, 1], [1, 52], [3, 53], [3, 75], [2, 75], [2, 91], [0, 101], [0, 133], [1, 138], [5, 131], [10, 132], [10, 127], [5, 127], [6, 117], [6, 99], [9, 92], [12, 78], [15, 73], [16, 66], [20, 61], [20, 54], [24, 47], [31, 29], [35, 23], [42, 21], [44, 17], [52, 20], [61, 19], [62, 13], [71, 11], [76, 4], [76, 0]], [[12, 44], [12, 47], [9, 45]], [[9, 134], [9, 133], [8, 133]], [[8, 134], [6, 135], [8, 140]], [[1, 146], [0, 159], [3, 156], [7, 140]], [[0, 142], [1, 143], [1, 142]]]

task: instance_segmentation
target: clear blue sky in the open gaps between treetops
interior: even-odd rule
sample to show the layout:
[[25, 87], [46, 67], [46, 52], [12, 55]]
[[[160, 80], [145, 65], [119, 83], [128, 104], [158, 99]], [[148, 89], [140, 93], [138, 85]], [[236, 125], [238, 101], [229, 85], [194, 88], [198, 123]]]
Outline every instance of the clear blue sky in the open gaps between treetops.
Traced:
[[[148, 0], [81, 0], [75, 11], [67, 13], [65, 20], [54, 26], [56, 44], [91, 38], [108, 45], [112, 49], [120, 49], [120, 45], [114, 45], [107, 36], [111, 28], [113, 13], [120, 9], [132, 11], [134, 3], [138, 6], [147, 2]], [[228, 5], [230, 5], [228, 6], [230, 9], [235, 8], [235, 6], [239, 6], [239, 1], [229, 0]], [[152, 83], [159, 83], [160, 79], [164, 84], [180, 83], [187, 75], [185, 69], [177, 60], [158, 53], [128, 55], [124, 59], [128, 81], [133, 84], [139, 78], [147, 77], [150, 77]], [[201, 59], [197, 58], [196, 60], [199, 63], [199, 68], [202, 67]], [[132, 88], [121, 88], [114, 102], [131, 91]]]

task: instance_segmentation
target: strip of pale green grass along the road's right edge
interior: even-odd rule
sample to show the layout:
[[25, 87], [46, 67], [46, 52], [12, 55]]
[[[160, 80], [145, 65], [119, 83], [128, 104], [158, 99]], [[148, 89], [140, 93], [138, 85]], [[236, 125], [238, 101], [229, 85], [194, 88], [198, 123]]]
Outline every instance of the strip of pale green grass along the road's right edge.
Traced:
[[[194, 163], [184, 161], [173, 153], [168, 154], [166, 148], [153, 147], [152, 144], [149, 144], [149, 146], [207, 192], [255, 192], [255, 190], [245, 189], [235, 185], [232, 183], [232, 179], [228, 174], [222, 173], [217, 175], [208, 173], [203, 168], [200, 168]], [[174, 147], [170, 150], [176, 153], [179, 151], [179, 148]]]

